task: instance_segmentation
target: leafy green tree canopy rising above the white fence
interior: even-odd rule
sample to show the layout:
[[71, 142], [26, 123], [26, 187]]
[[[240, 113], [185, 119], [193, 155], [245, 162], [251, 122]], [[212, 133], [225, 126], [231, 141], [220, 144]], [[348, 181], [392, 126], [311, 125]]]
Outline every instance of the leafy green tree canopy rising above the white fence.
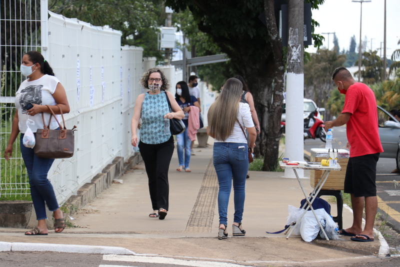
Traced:
[[66, 17], [122, 32], [121, 44], [143, 47], [143, 56], [163, 58], [157, 49], [158, 27], [165, 21], [162, 0], [48, 0], [48, 9]]

